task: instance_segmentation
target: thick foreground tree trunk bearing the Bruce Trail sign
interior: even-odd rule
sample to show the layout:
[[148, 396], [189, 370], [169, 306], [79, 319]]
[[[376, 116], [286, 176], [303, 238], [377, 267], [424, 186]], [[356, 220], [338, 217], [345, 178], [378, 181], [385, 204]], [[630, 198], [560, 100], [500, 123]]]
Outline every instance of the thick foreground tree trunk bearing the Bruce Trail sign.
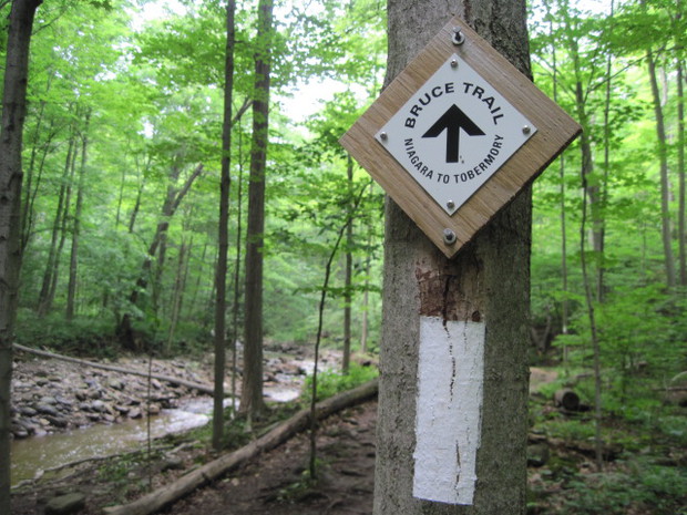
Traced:
[[[387, 84], [447, 21], [439, 0], [389, 2]], [[529, 73], [524, 1], [452, 3], [453, 13]], [[523, 190], [448, 260], [388, 199], [376, 515], [525, 513], [531, 192]], [[481, 328], [483, 401], [473, 504], [413, 497], [420, 333]], [[439, 332], [442, 332], [440, 329]], [[458, 363], [457, 363], [458, 365]], [[475, 435], [476, 436], [476, 435]]]

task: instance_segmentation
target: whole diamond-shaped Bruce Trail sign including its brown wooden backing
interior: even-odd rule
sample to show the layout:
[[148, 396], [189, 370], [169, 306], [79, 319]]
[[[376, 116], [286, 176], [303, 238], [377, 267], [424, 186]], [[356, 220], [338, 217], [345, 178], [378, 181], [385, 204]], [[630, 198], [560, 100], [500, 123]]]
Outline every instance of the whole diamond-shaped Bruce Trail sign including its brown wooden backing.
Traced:
[[450, 258], [581, 130], [454, 18], [340, 143]]

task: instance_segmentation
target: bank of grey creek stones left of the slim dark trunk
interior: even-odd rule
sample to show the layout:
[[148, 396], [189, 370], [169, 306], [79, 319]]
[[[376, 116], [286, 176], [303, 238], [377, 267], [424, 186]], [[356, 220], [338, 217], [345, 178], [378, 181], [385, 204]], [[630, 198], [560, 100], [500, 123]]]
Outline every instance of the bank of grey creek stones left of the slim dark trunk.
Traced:
[[[122, 359], [119, 367], [145, 372], [145, 359]], [[153, 362], [153, 373], [211, 384], [203, 363]], [[148, 394], [150, 392], [150, 394]], [[197, 396], [187, 387], [60, 360], [21, 356], [12, 374], [12, 424], [16, 439], [43, 436], [95, 423], [113, 424], [177, 408]]]

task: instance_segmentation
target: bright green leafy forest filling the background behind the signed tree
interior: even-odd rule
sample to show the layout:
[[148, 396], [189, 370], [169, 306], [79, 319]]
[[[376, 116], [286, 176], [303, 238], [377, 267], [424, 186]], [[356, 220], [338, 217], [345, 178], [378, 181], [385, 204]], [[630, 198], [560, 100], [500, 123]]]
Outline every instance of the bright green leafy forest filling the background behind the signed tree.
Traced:
[[[245, 351], [256, 418], [263, 346], [340, 351], [341, 378], [376, 362], [384, 193], [338, 140], [382, 87], [386, 12], [43, 0], [13, 341], [104, 362], [226, 351], [229, 374]], [[556, 379], [530, 418], [635, 456], [585, 480], [560, 457], [531, 484], [533, 514], [687, 513], [685, 14], [681, 0], [527, 4], [533, 80], [583, 127], [532, 186], [530, 365]], [[564, 387], [589, 413], [548, 409]]]

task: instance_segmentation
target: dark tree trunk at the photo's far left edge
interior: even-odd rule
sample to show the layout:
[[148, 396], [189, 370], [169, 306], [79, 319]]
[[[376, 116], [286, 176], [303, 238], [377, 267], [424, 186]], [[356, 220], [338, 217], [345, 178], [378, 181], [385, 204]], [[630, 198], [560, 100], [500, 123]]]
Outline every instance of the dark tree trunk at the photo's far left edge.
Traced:
[[27, 114], [29, 45], [41, 0], [14, 0], [10, 11], [0, 121], [0, 513], [10, 513], [12, 339], [21, 268], [21, 148]]

